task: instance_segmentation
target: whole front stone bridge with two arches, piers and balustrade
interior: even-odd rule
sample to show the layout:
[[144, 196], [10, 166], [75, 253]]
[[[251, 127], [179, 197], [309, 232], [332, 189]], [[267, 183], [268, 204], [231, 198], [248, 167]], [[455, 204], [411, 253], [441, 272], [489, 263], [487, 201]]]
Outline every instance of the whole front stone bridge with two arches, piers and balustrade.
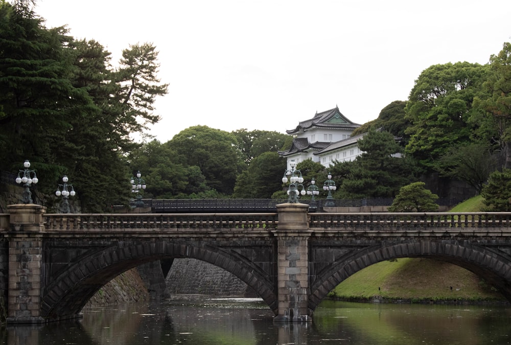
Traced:
[[[464, 267], [511, 300], [511, 213], [45, 214], [11, 205], [0, 215], [0, 287], [8, 322], [75, 318], [118, 274], [167, 258], [196, 258], [239, 277], [275, 321], [310, 321], [355, 272], [399, 257]], [[5, 274], [7, 273], [7, 274]]]

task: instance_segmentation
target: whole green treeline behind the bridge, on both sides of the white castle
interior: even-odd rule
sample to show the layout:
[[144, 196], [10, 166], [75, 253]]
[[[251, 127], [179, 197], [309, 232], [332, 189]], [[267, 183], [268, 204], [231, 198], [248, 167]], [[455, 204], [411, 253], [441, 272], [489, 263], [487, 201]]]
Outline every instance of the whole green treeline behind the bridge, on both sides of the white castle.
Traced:
[[[160, 118], [153, 104], [168, 85], [158, 79], [152, 44], [130, 45], [113, 68], [97, 41], [46, 28], [32, 2], [18, 0], [0, 1], [0, 52], [0, 170], [17, 172], [29, 159], [45, 195], [67, 175], [84, 211], [108, 211], [128, 203], [129, 179], [140, 170], [145, 198], [286, 197], [277, 150], [290, 146], [288, 135], [194, 126], [165, 143], [151, 140], [147, 125]], [[387, 198], [437, 172], [481, 192], [492, 172], [511, 165], [510, 92], [508, 42], [484, 65], [430, 66], [408, 100], [389, 103], [353, 133], [367, 133], [357, 160], [328, 169], [300, 162], [304, 186], [315, 178], [321, 188], [331, 172], [335, 198]]]

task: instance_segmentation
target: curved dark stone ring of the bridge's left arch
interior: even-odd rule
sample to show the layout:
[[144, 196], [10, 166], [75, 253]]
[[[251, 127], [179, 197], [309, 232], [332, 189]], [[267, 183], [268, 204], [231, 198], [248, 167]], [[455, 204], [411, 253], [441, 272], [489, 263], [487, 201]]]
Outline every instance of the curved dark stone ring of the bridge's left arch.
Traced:
[[87, 301], [115, 276], [138, 265], [171, 257], [196, 258], [225, 269], [257, 292], [276, 315], [273, 277], [244, 256], [214, 246], [160, 241], [112, 245], [69, 265], [43, 288], [42, 317], [76, 318]]

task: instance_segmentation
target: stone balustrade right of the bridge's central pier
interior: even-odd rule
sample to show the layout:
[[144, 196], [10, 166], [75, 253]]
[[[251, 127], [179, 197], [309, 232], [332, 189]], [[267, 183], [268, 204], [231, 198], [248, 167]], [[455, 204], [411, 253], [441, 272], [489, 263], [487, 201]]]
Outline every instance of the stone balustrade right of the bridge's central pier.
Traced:
[[345, 229], [460, 229], [511, 230], [511, 212], [310, 213], [310, 228]]

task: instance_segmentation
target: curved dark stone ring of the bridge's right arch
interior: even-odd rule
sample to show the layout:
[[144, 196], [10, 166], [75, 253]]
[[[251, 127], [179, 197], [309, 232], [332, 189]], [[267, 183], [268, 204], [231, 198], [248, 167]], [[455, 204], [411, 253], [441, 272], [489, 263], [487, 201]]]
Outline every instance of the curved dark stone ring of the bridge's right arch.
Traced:
[[465, 268], [484, 278], [511, 301], [511, 258], [504, 252], [462, 241], [410, 241], [353, 251], [320, 272], [311, 286], [309, 315], [337, 285], [379, 262], [402, 257], [429, 257]]

